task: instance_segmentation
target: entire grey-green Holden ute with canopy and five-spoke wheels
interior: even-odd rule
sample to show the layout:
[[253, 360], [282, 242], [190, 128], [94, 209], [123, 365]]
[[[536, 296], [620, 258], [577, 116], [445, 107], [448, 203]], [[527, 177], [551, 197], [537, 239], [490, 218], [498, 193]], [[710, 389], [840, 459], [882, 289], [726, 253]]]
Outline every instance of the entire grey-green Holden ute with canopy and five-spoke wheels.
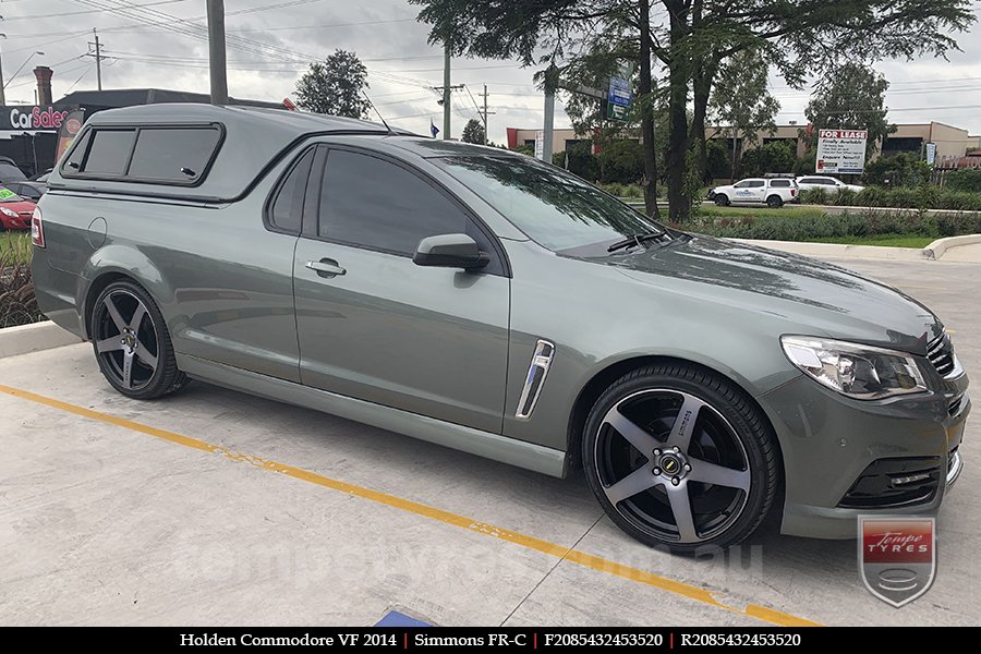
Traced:
[[962, 467], [968, 378], [924, 306], [658, 225], [531, 157], [147, 105], [92, 117], [49, 185], [38, 305], [130, 398], [198, 378], [581, 465], [617, 525], [683, 554], [771, 510], [822, 537], [933, 513]]

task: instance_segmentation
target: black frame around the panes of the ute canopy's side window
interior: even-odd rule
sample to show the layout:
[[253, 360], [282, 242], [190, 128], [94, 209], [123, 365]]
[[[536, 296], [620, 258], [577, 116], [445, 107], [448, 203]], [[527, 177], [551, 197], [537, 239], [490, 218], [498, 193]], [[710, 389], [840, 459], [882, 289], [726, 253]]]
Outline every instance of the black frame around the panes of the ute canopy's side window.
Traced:
[[[133, 156], [136, 153], [136, 144], [140, 142], [140, 133], [144, 130], [214, 130], [218, 132], [218, 141], [215, 143], [215, 147], [211, 150], [211, 154], [205, 162], [204, 167], [202, 168], [202, 171], [194, 179], [180, 180], [153, 177], [132, 177], [130, 175], [130, 167], [133, 164]], [[133, 137], [133, 145], [130, 147], [130, 152], [126, 155], [126, 164], [123, 167], [122, 174], [107, 174], [105, 172], [88, 173], [84, 170], [85, 165], [88, 162], [88, 155], [92, 152], [92, 146], [93, 144], [95, 144], [96, 137], [98, 136], [99, 132], [135, 132]], [[193, 189], [196, 186], [201, 186], [207, 179], [208, 173], [210, 172], [211, 167], [215, 164], [215, 159], [218, 158], [218, 154], [221, 152], [221, 146], [225, 145], [226, 135], [227, 131], [225, 129], [225, 124], [220, 122], [145, 123], [138, 125], [90, 125], [75, 137], [71, 149], [69, 149], [69, 152], [62, 158], [62, 162], [58, 167], [58, 169], [61, 172], [61, 175], [66, 179], [100, 180], [107, 182], [123, 182], [128, 184], [157, 184], [161, 186], [185, 186]], [[75, 170], [69, 167], [68, 162], [75, 154], [75, 150], [78, 147], [83, 146], [85, 147], [85, 152], [82, 154], [82, 166], [80, 170]]]

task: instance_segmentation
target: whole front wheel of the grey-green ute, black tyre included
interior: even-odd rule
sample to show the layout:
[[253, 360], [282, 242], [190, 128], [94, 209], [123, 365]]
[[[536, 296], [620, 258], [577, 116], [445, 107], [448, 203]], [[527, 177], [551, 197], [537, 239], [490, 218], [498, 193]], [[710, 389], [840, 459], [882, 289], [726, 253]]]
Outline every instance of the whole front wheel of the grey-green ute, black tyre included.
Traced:
[[683, 364], [613, 384], [586, 419], [582, 460], [620, 529], [682, 555], [749, 536], [779, 483], [775, 436], [761, 411], [727, 380]]

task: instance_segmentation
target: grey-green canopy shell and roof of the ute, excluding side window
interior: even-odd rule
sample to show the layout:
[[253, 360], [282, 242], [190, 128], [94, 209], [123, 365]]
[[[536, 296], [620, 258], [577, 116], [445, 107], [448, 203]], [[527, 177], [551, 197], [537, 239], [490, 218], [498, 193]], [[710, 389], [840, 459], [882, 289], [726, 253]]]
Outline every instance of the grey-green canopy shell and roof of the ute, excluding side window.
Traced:
[[[362, 134], [387, 136], [411, 135], [389, 132], [384, 125], [336, 116], [284, 111], [263, 107], [218, 107], [204, 104], [154, 104], [108, 109], [93, 114], [85, 131], [101, 126], [147, 125], [221, 125], [225, 138], [210, 170], [197, 186], [134, 183], [92, 178], [64, 178], [56, 168], [49, 183], [52, 187], [92, 189], [154, 196], [234, 199], [279, 158], [310, 136], [327, 134]], [[76, 138], [81, 142], [81, 135]]]

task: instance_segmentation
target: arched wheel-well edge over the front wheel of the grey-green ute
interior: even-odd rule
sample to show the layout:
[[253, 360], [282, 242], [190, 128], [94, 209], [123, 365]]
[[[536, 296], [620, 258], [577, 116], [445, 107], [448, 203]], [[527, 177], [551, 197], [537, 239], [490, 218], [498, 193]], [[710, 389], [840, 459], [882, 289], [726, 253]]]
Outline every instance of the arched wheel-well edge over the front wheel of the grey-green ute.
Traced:
[[600, 396], [613, 385], [614, 382], [622, 377], [623, 375], [635, 371], [641, 367], [645, 367], [649, 365], [656, 364], [683, 364], [688, 366], [693, 366], [698, 368], [702, 368], [705, 372], [712, 373], [713, 375], [722, 377], [728, 384], [731, 384], [734, 388], [736, 388], [739, 392], [741, 392], [747, 402], [749, 402], [752, 407], [754, 407], [761, 415], [765, 426], [771, 431], [773, 435], [773, 441], [776, 444], [777, 452], [776, 460], [778, 463], [778, 475], [779, 475], [779, 484], [780, 487], [777, 489], [778, 495], [783, 493], [783, 480], [784, 480], [784, 453], [783, 447], [780, 446], [779, 433], [776, 431], [773, 421], [771, 421], [768, 413], [764, 410], [764, 408], [755, 400], [753, 395], [747, 390], [747, 384], [744, 380], [740, 382], [730, 374], [726, 374], [725, 372], [718, 370], [718, 367], [706, 365], [705, 363], [694, 361], [691, 359], [686, 359], [681, 356], [669, 356], [669, 355], [659, 355], [659, 354], [644, 354], [644, 355], [634, 355], [627, 359], [621, 359], [619, 361], [615, 361], [596, 372], [580, 389], [579, 395], [576, 398], [576, 402], [572, 404], [572, 411], [569, 415], [569, 425], [568, 425], [568, 435], [567, 435], [567, 449], [566, 449], [566, 467], [567, 471], [574, 470], [582, 465], [581, 452], [582, 449], [582, 438], [583, 432], [585, 428], [586, 417], [590, 414], [593, 405], [596, 403], [596, 400], [600, 399]]

